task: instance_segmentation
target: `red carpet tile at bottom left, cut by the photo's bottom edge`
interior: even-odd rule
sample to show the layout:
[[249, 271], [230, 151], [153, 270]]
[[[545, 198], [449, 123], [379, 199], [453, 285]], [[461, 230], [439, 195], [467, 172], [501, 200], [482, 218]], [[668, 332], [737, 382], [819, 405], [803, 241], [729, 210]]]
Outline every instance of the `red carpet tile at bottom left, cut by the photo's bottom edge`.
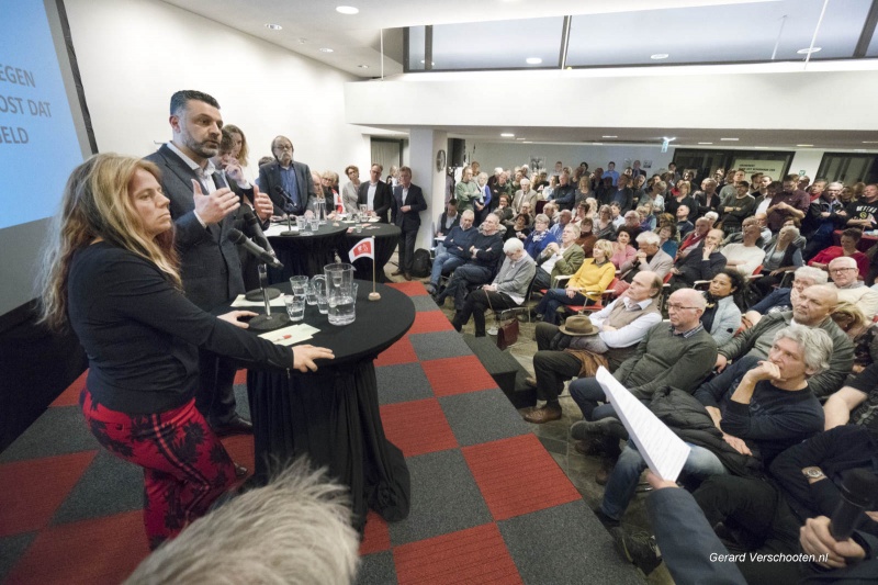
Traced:
[[149, 554], [143, 513], [53, 526], [42, 531], [8, 584], [116, 584]]

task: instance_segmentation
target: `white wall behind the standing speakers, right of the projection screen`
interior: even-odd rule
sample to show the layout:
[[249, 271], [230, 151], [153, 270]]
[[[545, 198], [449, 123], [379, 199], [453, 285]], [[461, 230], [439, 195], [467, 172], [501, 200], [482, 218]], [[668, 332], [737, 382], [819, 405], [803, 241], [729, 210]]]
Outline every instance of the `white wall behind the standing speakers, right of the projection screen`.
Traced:
[[254, 178], [278, 134], [313, 170], [369, 166], [368, 136], [345, 122], [352, 76], [155, 0], [65, 5], [101, 151], [151, 153], [170, 139], [171, 93], [198, 89], [247, 135]]

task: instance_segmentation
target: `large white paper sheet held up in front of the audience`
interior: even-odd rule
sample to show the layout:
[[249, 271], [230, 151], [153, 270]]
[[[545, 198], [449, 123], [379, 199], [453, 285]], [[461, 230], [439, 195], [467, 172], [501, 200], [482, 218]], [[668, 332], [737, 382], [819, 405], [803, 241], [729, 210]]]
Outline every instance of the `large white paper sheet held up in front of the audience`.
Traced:
[[596, 380], [653, 473], [677, 481], [691, 449], [603, 365]]

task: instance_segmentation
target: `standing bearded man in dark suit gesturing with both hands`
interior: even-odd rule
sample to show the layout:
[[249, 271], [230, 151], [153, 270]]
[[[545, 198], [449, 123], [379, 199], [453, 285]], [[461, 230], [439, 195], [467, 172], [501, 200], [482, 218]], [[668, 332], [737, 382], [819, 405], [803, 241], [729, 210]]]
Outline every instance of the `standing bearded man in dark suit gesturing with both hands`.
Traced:
[[[161, 169], [161, 189], [170, 199], [185, 295], [210, 311], [244, 292], [238, 251], [227, 237], [241, 198], [210, 160], [218, 151], [223, 126], [216, 100], [200, 91], [178, 91], [170, 114], [172, 140], [146, 159]], [[259, 217], [268, 217], [268, 198], [252, 189], [249, 193]], [[217, 434], [251, 432], [250, 421], [235, 412], [232, 362], [203, 351], [199, 374], [195, 405]]]

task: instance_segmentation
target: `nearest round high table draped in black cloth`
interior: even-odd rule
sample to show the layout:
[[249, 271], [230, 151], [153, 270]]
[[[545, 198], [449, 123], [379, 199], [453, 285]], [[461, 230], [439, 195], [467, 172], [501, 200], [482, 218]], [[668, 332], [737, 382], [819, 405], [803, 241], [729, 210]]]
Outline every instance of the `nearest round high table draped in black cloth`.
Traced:
[[[365, 525], [368, 508], [394, 521], [408, 516], [410, 487], [402, 451], [384, 436], [372, 361], [403, 337], [415, 322], [415, 305], [395, 289], [358, 281], [357, 318], [329, 325], [316, 305], [305, 320], [319, 333], [305, 344], [327, 347], [335, 360], [316, 372], [249, 370], [247, 394], [254, 421], [256, 477], [263, 482], [300, 455], [350, 486], [354, 527]], [[278, 286], [290, 292], [289, 282]], [[283, 311], [283, 310], [281, 310]], [[293, 346], [295, 347], [295, 346]]]

